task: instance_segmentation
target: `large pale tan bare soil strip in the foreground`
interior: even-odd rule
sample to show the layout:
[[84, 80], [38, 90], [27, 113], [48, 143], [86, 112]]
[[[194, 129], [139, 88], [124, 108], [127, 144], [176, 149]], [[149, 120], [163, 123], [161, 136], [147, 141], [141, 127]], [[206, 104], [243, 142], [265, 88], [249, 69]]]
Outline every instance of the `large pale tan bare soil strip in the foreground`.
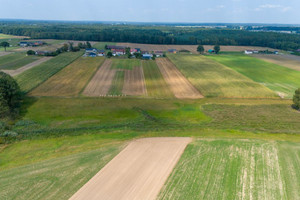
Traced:
[[133, 141], [70, 200], [156, 199], [190, 141], [190, 138]]

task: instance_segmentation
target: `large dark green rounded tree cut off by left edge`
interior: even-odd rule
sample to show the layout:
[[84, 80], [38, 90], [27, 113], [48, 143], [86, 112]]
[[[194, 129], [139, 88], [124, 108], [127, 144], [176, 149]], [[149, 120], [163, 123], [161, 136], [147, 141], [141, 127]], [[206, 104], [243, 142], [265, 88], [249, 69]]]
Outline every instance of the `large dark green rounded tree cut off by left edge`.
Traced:
[[17, 82], [8, 74], [0, 72], [0, 118], [14, 117], [22, 100]]

